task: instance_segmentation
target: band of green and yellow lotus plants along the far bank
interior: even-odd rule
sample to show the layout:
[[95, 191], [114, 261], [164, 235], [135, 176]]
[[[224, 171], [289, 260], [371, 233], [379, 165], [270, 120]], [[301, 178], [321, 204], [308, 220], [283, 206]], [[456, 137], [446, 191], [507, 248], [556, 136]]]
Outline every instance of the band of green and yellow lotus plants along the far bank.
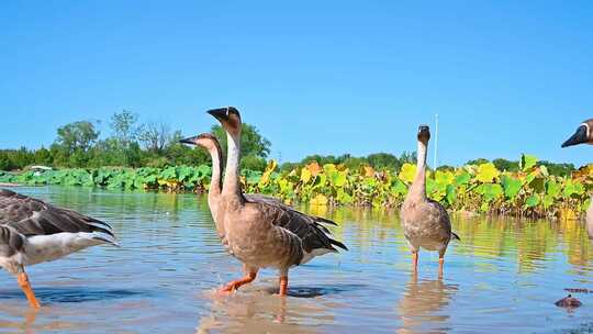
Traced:
[[[399, 208], [412, 183], [416, 166], [404, 164], [399, 172], [370, 166], [350, 169], [344, 165], [312, 162], [279, 172], [270, 160], [265, 171], [243, 170], [246, 192], [267, 193], [288, 203]], [[43, 174], [0, 171], [0, 182], [68, 185], [110, 189], [204, 191], [210, 166], [166, 168], [60, 169]], [[575, 219], [589, 207], [593, 190], [593, 165], [571, 176], [548, 172], [532, 155], [521, 157], [517, 171], [497, 169], [492, 163], [456, 169], [427, 171], [426, 191], [452, 211], [500, 213], [517, 216]]]

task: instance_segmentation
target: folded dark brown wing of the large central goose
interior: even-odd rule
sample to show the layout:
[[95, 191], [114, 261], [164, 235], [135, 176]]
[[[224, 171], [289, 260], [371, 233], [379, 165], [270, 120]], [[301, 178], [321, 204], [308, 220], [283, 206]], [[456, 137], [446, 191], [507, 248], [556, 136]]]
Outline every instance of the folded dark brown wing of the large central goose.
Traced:
[[337, 252], [334, 246], [348, 250], [343, 243], [332, 238], [332, 232], [323, 225], [337, 225], [335, 222], [296, 211], [276, 198], [247, 194], [245, 199], [258, 204], [260, 210], [266, 212], [266, 216], [270, 218], [273, 225], [283, 227], [299, 236], [306, 253], [312, 253], [314, 249]]

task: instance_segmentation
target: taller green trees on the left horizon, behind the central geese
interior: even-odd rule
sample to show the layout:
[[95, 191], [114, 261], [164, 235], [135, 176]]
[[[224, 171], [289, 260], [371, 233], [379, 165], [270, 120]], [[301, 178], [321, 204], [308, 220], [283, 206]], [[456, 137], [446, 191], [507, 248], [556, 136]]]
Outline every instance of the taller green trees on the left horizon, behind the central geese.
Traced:
[[[139, 123], [138, 115], [127, 110], [111, 116], [108, 136], [101, 136], [97, 129], [99, 123], [78, 121], [60, 126], [54, 143], [47, 148], [0, 149], [0, 170], [20, 170], [32, 165], [57, 168], [161, 168], [198, 166], [210, 162], [210, 156], [203, 149], [180, 144], [181, 131], [174, 131], [166, 123]], [[264, 170], [271, 143], [253, 125], [244, 124], [243, 131], [243, 167]], [[226, 135], [220, 125], [212, 126], [211, 132], [226, 143]]]

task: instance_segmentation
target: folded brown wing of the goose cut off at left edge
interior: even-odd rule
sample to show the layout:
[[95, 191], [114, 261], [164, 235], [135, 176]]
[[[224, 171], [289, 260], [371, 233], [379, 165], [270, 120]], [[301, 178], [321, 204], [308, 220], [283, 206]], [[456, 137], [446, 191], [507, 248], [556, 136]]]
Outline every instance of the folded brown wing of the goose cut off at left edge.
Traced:
[[96, 238], [116, 245], [109, 224], [7, 189], [0, 189], [0, 225], [10, 226], [25, 236], [93, 233]]

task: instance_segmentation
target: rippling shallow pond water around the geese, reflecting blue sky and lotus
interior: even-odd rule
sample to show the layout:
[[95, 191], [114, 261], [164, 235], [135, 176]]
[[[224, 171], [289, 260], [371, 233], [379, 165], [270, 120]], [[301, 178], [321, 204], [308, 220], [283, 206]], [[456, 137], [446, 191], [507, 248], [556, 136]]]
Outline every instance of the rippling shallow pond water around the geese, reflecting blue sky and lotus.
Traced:
[[222, 248], [205, 198], [86, 188], [19, 188], [110, 222], [122, 247], [93, 247], [29, 268], [44, 307], [35, 312], [0, 274], [7, 333], [563, 333], [593, 329], [593, 294], [573, 311], [564, 288], [593, 289], [593, 250], [581, 222], [454, 218], [461, 236], [437, 279], [437, 255], [419, 276], [398, 214], [310, 212], [334, 219], [349, 252], [290, 271], [290, 297], [261, 271], [237, 293], [214, 291], [240, 275]]

